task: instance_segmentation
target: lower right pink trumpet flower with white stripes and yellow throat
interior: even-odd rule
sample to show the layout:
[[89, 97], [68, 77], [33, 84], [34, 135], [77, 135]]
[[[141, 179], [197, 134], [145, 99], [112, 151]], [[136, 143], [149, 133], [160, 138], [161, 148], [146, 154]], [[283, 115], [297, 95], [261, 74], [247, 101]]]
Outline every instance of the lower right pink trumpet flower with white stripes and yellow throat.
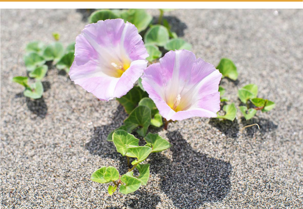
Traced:
[[214, 65], [190, 51], [176, 50], [145, 69], [142, 85], [167, 120], [216, 117], [221, 77]]

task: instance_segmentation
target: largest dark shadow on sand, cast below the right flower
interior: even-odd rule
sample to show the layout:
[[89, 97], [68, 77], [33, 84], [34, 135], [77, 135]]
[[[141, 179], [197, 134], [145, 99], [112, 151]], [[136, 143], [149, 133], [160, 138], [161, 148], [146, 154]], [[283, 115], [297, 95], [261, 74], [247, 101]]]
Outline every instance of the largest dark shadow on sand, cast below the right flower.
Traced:
[[152, 174], [160, 175], [161, 189], [179, 208], [196, 208], [222, 200], [230, 191], [231, 164], [196, 152], [179, 131], [168, 132], [172, 160], [151, 156]]

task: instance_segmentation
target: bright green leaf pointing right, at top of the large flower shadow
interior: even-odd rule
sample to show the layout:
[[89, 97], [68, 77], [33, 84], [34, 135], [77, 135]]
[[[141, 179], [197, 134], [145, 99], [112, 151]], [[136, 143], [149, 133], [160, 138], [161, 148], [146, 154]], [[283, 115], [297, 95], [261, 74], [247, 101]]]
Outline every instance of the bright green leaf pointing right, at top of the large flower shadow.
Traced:
[[163, 150], [167, 150], [171, 147], [171, 144], [165, 140], [165, 138], [161, 137], [158, 133], [148, 133], [144, 140], [151, 144], [151, 147], [153, 148], [153, 153], [158, 153]]

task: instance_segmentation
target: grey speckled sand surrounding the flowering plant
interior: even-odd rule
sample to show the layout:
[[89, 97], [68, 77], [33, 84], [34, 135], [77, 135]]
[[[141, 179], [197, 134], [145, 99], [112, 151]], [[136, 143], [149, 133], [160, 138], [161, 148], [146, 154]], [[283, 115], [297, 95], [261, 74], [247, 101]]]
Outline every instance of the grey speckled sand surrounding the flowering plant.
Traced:
[[[276, 102], [269, 113], [234, 122], [191, 118], [154, 129], [173, 147], [153, 154], [146, 186], [109, 196], [89, 180], [105, 165], [125, 172], [125, 159], [106, 141], [126, 114], [117, 101], [101, 102], [57, 69], [44, 79], [43, 99], [31, 101], [11, 82], [25, 76], [26, 43], [65, 46], [87, 22], [76, 10], [1, 10], [2, 208], [302, 208], [303, 11], [176, 10], [166, 16], [192, 51], [215, 65], [238, 67], [236, 82], [223, 80], [235, 102], [237, 89], [259, 86]], [[158, 15], [158, 11], [149, 10]], [[259, 123], [239, 132], [241, 127]]]

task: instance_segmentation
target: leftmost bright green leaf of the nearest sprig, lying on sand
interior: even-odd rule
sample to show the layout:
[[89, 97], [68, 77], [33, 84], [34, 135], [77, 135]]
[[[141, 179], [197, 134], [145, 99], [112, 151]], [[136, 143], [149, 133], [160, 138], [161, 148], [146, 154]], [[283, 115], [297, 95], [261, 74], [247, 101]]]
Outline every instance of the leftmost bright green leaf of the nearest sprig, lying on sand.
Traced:
[[103, 166], [91, 174], [90, 180], [97, 183], [109, 183], [119, 179], [119, 172], [113, 166]]

